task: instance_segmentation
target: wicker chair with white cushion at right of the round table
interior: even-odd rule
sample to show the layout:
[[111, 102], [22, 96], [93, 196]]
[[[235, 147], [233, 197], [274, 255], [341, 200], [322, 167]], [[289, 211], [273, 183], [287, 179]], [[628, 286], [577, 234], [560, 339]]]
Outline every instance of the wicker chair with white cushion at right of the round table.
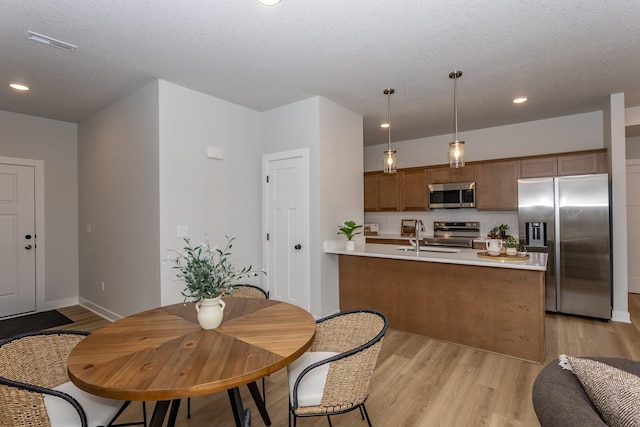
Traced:
[[289, 426], [298, 417], [327, 416], [360, 409], [369, 396], [387, 318], [375, 310], [351, 310], [316, 322], [316, 336], [308, 352], [287, 367]]

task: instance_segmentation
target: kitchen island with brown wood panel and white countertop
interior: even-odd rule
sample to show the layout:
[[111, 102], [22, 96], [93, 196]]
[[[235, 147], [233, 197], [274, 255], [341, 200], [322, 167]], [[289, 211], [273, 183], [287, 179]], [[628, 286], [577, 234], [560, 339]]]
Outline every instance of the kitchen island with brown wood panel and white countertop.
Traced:
[[326, 242], [339, 256], [340, 309], [374, 308], [389, 326], [544, 363], [547, 255], [507, 261], [478, 250]]

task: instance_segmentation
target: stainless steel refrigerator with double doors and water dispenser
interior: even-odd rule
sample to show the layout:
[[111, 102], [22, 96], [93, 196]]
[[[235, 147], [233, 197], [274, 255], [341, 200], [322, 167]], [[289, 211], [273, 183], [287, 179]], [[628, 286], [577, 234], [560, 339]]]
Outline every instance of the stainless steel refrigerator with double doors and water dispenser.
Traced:
[[547, 252], [546, 309], [611, 319], [606, 174], [518, 180], [519, 239]]

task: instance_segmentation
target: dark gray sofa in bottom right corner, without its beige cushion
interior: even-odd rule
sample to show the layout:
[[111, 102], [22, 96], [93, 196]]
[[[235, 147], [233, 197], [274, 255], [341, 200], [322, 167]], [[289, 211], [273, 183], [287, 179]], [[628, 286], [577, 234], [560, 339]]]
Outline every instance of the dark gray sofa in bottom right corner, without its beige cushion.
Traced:
[[[640, 376], [640, 362], [609, 357], [589, 357]], [[533, 407], [542, 427], [596, 427], [606, 424], [600, 418], [580, 381], [558, 365], [558, 359], [545, 366], [533, 384]]]

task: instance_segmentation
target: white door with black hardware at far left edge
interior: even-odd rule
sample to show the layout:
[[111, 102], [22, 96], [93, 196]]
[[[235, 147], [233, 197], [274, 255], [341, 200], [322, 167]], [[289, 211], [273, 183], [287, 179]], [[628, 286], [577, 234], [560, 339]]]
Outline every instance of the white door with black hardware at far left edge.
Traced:
[[35, 168], [0, 164], [0, 317], [36, 310]]

